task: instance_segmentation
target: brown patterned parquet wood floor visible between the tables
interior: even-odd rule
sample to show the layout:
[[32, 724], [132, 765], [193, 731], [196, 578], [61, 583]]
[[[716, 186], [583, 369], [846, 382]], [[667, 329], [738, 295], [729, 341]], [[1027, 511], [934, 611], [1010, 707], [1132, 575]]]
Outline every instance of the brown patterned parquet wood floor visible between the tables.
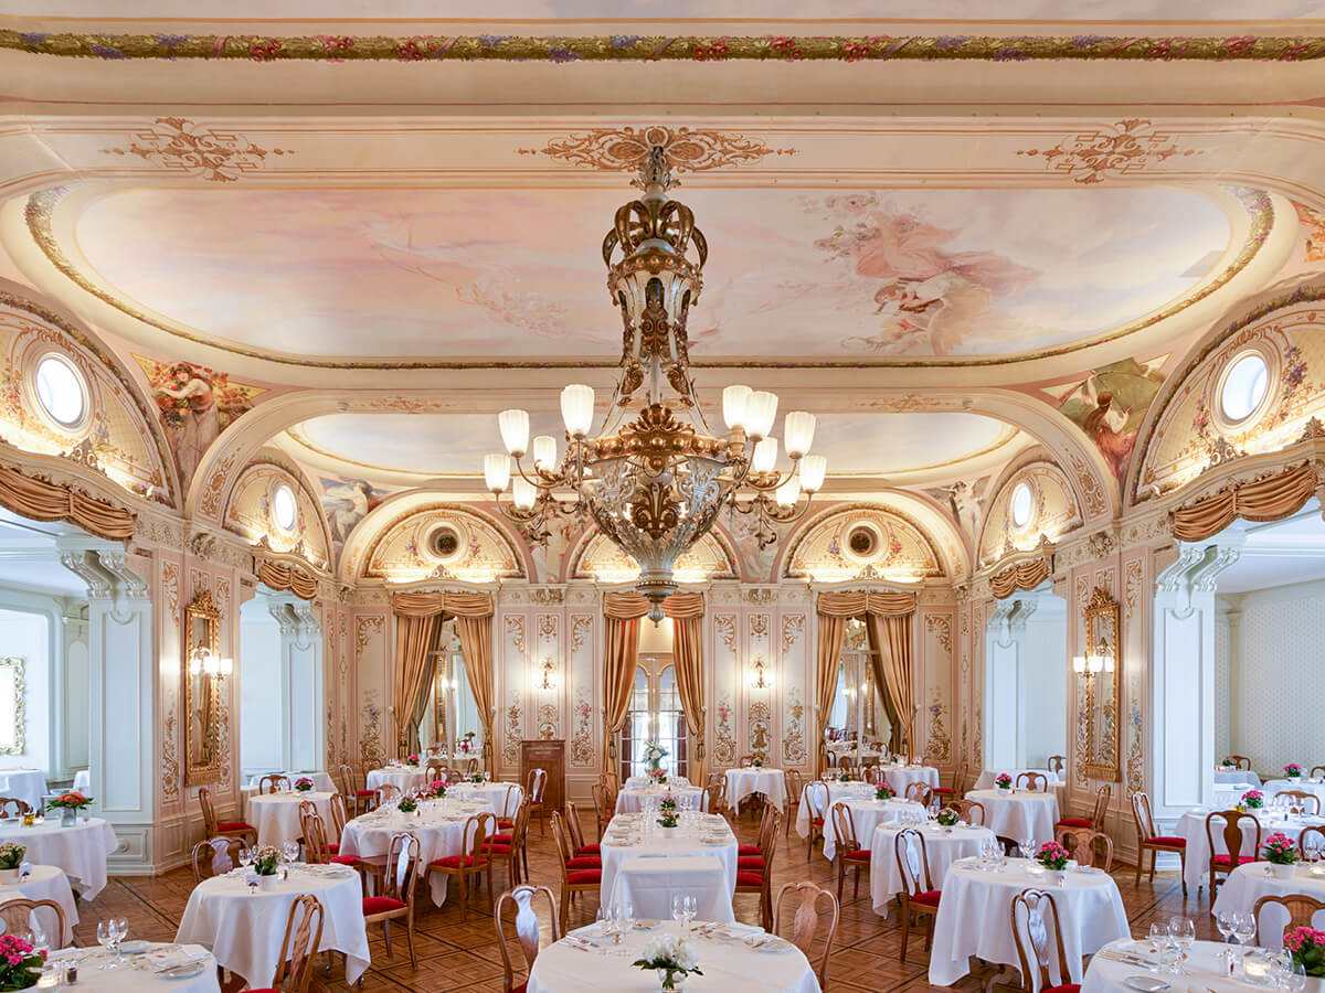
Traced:
[[[592, 818], [587, 818], [586, 835], [592, 837]], [[754, 842], [757, 822], [750, 816], [737, 821], [737, 833], [742, 843]], [[551, 886], [559, 892], [559, 869], [551, 833], [541, 837], [533, 828], [533, 843], [529, 855], [530, 875], [534, 882]], [[1134, 935], [1145, 935], [1151, 920], [1167, 919], [1174, 915], [1187, 915], [1196, 922], [1198, 937], [1218, 937], [1214, 922], [1210, 919], [1210, 899], [1202, 892], [1185, 900], [1177, 873], [1162, 873], [1155, 876], [1154, 886], [1145, 876], [1140, 886], [1133, 884], [1130, 867], [1114, 867], [1114, 876], [1128, 908]], [[807, 861], [804, 842], [796, 837], [795, 829], [790, 841], [779, 843], [774, 858], [774, 891], [786, 882], [812, 879], [820, 884], [836, 888], [836, 876], [831, 865], [818, 851]], [[504, 875], [498, 874], [496, 892], [502, 888]], [[115, 878], [90, 903], [80, 906], [81, 922], [76, 929], [76, 943], [94, 945], [97, 922], [105, 916], [125, 916], [130, 922], [131, 936], [156, 941], [170, 941], [184, 912], [188, 894], [193, 888], [189, 870], [176, 870], [167, 875], [147, 878]], [[873, 912], [869, 902], [869, 884], [861, 878], [859, 900], [851, 896], [848, 875], [841, 922], [833, 941], [828, 968], [828, 990], [833, 993], [910, 993], [931, 989], [926, 982], [929, 957], [924, 952], [922, 932], [912, 933], [908, 961], [901, 961], [901, 931], [897, 915], [885, 920]], [[454, 899], [448, 899], [445, 907], [432, 907], [421, 895], [420, 916], [416, 925], [416, 949], [419, 968], [409, 965], [404, 945], [404, 933], [392, 928], [394, 959], [387, 959], [382, 928], [368, 931], [372, 951], [372, 965], [364, 973], [362, 986], [348, 986], [344, 982], [339, 963], [330, 974], [321, 970], [318, 978], [325, 989], [337, 993], [351, 989], [374, 990], [417, 990], [419, 993], [496, 993], [501, 990], [501, 956], [497, 948], [497, 933], [492, 918], [486, 914], [485, 895], [477, 899], [477, 912], [470, 904], [469, 920], [460, 922], [460, 911]], [[571, 907], [571, 927], [591, 923], [598, 910], [594, 895], [580, 898]], [[758, 898], [738, 895], [735, 898], [737, 918], [747, 923], [758, 923]], [[517, 948], [511, 948], [511, 960], [522, 963]], [[973, 976], [958, 984], [959, 993], [977, 993], [987, 972], [977, 967]], [[269, 981], [270, 977], [256, 977]], [[519, 980], [517, 980], [519, 981]], [[261, 984], [258, 984], [261, 985]]]

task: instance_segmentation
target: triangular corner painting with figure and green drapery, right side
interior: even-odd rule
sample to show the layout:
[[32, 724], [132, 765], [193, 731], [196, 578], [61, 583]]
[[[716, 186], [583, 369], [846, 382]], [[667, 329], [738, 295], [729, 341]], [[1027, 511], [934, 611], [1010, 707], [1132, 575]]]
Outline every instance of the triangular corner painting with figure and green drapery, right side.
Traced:
[[1166, 359], [1101, 365], [1059, 397], [1059, 409], [1094, 442], [1118, 482], [1126, 475], [1146, 408], [1163, 384], [1159, 369]]

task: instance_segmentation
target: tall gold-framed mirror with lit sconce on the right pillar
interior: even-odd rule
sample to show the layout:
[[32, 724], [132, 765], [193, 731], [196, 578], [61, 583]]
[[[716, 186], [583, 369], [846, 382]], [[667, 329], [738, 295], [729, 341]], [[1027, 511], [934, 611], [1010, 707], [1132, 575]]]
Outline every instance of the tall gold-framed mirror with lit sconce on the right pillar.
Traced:
[[1085, 605], [1085, 768], [1088, 779], [1122, 779], [1118, 720], [1122, 714], [1122, 659], [1118, 657], [1118, 601], [1096, 587]]

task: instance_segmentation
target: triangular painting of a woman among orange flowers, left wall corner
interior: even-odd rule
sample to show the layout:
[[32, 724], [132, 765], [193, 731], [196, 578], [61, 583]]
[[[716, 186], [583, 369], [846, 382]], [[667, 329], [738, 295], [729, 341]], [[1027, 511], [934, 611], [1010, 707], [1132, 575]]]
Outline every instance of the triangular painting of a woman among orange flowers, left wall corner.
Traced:
[[223, 430], [253, 409], [261, 387], [231, 383], [229, 373], [189, 361], [156, 361], [142, 355], [134, 359], [152, 388], [180, 479], [187, 487], [203, 455]]

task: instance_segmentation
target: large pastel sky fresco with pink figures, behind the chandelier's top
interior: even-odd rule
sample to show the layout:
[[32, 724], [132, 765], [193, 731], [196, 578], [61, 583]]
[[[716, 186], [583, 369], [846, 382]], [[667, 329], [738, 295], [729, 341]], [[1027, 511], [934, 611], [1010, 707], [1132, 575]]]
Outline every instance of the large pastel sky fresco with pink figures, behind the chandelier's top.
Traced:
[[[706, 356], [987, 356], [1106, 336], [1183, 297], [1230, 222], [1173, 188], [682, 188]], [[77, 250], [193, 332], [307, 356], [611, 355], [599, 246], [627, 189], [130, 189]], [[152, 238], [127, 234], [152, 230]]]

